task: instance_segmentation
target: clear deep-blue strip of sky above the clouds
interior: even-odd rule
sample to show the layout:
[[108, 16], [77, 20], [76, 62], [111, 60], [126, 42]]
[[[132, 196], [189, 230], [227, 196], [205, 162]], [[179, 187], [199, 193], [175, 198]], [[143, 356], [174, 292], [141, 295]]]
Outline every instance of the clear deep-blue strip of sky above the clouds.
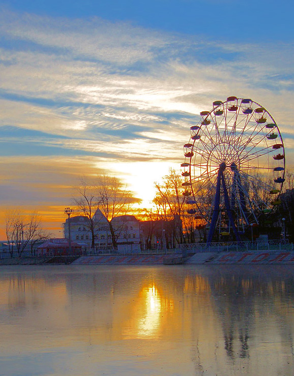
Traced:
[[101, 17], [167, 32], [230, 41], [292, 41], [293, 5], [288, 0], [8, 1], [22, 12], [70, 18]]

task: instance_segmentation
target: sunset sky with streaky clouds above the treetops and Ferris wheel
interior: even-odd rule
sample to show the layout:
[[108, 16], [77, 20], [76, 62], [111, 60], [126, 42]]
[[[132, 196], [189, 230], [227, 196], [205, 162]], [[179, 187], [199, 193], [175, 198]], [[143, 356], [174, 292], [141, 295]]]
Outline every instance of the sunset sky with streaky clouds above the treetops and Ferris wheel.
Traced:
[[58, 236], [80, 176], [119, 176], [148, 206], [154, 181], [183, 162], [199, 112], [228, 96], [271, 113], [293, 164], [290, 1], [15, 0], [0, 10], [0, 238], [13, 206], [37, 210]]

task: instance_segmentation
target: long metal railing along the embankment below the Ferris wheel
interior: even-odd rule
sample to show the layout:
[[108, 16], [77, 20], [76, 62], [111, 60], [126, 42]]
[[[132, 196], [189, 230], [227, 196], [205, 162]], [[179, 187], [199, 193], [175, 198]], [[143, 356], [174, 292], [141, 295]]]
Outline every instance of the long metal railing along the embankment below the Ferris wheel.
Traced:
[[180, 244], [182, 254], [196, 252], [245, 252], [247, 250], [293, 250], [293, 243], [288, 240], [258, 241], [225, 241], [216, 243]]

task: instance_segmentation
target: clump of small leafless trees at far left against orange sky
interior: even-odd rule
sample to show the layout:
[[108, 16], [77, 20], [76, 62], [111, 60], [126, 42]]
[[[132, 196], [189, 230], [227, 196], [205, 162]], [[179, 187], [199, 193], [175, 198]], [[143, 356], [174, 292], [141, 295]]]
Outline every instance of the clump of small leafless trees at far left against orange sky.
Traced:
[[42, 228], [41, 217], [37, 213], [24, 215], [13, 209], [6, 213], [6, 236], [10, 257], [13, 258], [14, 250], [21, 257], [28, 244], [47, 239], [50, 234]]

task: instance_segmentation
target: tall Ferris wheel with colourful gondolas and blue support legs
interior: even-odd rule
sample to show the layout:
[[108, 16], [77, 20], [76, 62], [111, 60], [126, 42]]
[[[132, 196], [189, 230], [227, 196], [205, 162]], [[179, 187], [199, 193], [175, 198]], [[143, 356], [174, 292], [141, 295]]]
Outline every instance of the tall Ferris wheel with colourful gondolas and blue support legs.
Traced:
[[229, 234], [241, 240], [280, 203], [284, 144], [273, 117], [251, 99], [229, 97], [202, 111], [184, 154], [188, 213], [204, 218], [208, 243]]

